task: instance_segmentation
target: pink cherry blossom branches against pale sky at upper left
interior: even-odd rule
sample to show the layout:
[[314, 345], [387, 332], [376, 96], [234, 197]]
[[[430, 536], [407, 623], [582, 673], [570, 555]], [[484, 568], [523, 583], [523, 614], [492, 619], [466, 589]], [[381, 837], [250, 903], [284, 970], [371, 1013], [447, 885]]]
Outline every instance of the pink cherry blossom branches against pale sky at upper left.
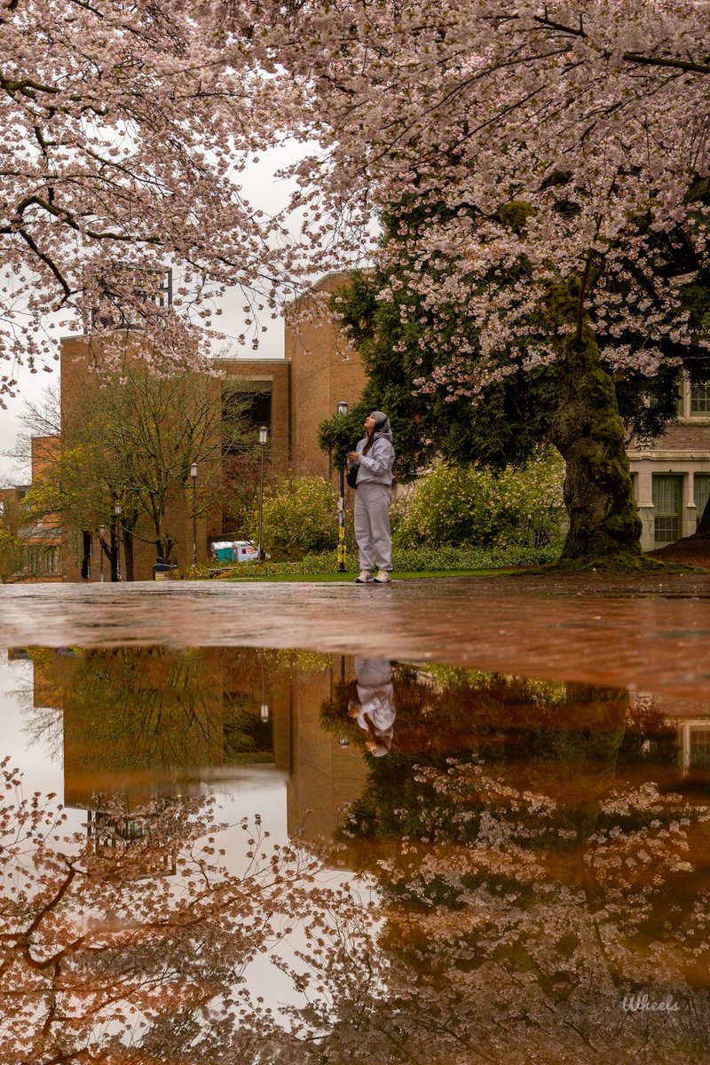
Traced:
[[214, 299], [237, 285], [257, 339], [284, 245], [238, 184], [259, 124], [249, 50], [225, 59], [224, 11], [0, 5], [0, 402], [22, 364], [51, 368], [53, 327], [90, 329], [110, 360], [115, 327], [141, 326], [149, 362], [158, 351], [194, 366]]

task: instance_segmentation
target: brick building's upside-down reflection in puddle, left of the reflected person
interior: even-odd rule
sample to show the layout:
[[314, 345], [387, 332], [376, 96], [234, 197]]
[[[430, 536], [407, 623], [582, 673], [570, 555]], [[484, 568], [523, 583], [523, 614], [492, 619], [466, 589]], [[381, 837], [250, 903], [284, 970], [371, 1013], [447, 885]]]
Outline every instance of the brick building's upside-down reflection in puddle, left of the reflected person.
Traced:
[[362, 789], [361, 750], [320, 724], [340, 656], [149, 648], [31, 657], [35, 727], [61, 730], [67, 806], [122, 796], [132, 810], [155, 796], [282, 780], [288, 832], [308, 839], [331, 835]]

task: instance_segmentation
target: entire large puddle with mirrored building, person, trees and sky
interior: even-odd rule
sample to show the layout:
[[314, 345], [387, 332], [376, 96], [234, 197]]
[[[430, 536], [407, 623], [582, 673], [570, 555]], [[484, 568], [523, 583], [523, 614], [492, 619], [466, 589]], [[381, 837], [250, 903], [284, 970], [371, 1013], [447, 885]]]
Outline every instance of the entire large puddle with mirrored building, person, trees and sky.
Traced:
[[65, 808], [5, 767], [3, 1062], [708, 1060], [705, 707], [298, 652], [28, 654], [4, 712], [63, 759]]

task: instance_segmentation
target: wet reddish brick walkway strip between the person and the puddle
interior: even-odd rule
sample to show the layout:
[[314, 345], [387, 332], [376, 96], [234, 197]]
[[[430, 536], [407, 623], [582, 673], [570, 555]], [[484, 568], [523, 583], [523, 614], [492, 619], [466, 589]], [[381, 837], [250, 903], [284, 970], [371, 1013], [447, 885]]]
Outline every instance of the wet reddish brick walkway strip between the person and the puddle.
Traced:
[[708, 700], [710, 577], [13, 585], [0, 646], [310, 648]]

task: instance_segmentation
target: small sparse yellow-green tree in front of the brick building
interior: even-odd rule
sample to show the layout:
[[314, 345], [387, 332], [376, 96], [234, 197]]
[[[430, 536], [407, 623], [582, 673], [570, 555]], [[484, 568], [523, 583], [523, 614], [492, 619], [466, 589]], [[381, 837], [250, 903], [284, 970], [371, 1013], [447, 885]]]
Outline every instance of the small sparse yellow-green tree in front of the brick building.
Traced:
[[[134, 539], [170, 558], [178, 535], [169, 526], [169, 508], [185, 501], [192, 463], [199, 464], [199, 514], [219, 498], [226, 444], [255, 445], [240, 416], [246, 402], [240, 407], [234, 400], [225, 422], [216, 378], [184, 371], [156, 375], [139, 360], [129, 361], [86, 396], [80, 420], [61, 425], [59, 457], [28, 493], [29, 506], [37, 517], [57, 515], [65, 531], [103, 527], [101, 548], [115, 574], [119, 503], [130, 580]], [[36, 412], [30, 427], [42, 429]]]

